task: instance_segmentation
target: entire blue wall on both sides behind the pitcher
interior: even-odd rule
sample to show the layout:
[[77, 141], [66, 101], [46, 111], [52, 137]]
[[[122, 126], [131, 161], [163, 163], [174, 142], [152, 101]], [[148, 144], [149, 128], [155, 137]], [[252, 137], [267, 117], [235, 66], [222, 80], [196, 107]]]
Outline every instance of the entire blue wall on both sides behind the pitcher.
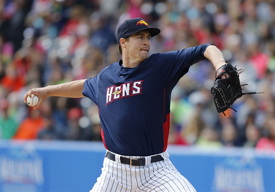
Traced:
[[[275, 151], [168, 146], [197, 191], [275, 191]], [[0, 191], [89, 191], [106, 150], [98, 142], [0, 140]]]

